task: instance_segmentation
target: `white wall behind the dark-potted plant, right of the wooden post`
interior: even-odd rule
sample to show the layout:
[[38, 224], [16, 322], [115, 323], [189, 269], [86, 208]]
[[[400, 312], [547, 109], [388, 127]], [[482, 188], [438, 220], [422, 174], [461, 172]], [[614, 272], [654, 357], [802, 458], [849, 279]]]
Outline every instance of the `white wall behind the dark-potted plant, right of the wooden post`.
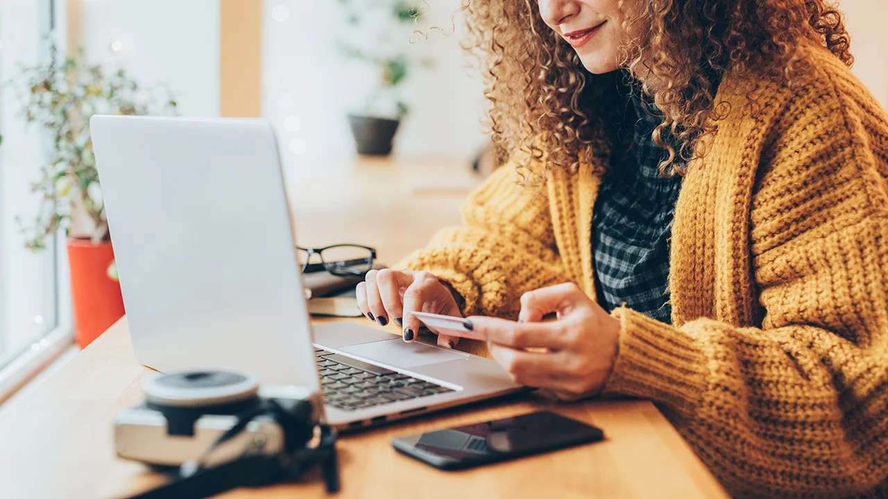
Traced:
[[[305, 140], [303, 157], [323, 158], [330, 154], [353, 154], [354, 146], [346, 114], [354, 96], [364, 86], [354, 65], [333, 45], [347, 23], [334, 0], [263, 0], [263, 115], [279, 131], [285, 161], [295, 156], [287, 144]], [[433, 0], [428, 24], [447, 28], [459, 8], [459, 0]], [[274, 7], [289, 12], [275, 20]], [[429, 40], [415, 37], [409, 49], [435, 59], [434, 67], [414, 68], [405, 83], [411, 107], [401, 123], [395, 143], [396, 154], [422, 156], [446, 154], [471, 157], [485, 139], [480, 117], [483, 96], [478, 75], [468, 75], [459, 48], [461, 20], [456, 33], [442, 36], [432, 32]], [[409, 40], [405, 40], [409, 44]], [[283, 120], [296, 116], [297, 131], [286, 131]]]

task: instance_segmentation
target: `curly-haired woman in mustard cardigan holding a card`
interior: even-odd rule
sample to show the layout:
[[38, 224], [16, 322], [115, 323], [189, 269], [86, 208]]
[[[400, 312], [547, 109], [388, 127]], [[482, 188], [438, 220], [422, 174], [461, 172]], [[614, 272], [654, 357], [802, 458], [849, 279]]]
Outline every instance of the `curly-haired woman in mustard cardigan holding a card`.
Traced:
[[734, 495], [885, 494], [888, 121], [839, 13], [468, 10], [518, 152], [361, 310], [407, 341], [410, 311], [469, 315], [519, 383], [653, 400]]

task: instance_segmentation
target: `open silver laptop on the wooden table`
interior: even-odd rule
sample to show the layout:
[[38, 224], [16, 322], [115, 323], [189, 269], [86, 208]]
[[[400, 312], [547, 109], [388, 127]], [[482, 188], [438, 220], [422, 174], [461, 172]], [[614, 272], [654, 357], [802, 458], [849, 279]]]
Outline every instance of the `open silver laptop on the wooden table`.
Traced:
[[97, 115], [90, 129], [143, 365], [304, 387], [340, 430], [523, 389], [493, 360], [353, 322], [312, 325], [265, 120]]

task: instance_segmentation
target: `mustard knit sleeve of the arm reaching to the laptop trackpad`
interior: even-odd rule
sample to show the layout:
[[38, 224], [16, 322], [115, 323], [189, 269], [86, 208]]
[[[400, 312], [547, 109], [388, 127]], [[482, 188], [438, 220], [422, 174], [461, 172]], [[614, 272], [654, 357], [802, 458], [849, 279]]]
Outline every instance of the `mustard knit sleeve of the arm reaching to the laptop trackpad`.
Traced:
[[397, 266], [448, 282], [464, 298], [464, 314], [514, 318], [525, 291], [568, 281], [545, 189], [519, 185], [514, 161], [469, 196], [463, 218]]

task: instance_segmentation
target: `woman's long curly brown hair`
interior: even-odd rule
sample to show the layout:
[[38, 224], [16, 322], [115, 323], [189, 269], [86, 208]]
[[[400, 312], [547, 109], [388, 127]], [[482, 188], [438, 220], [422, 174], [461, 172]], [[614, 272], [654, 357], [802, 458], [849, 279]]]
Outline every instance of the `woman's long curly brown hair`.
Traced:
[[[619, 8], [631, 12], [623, 31], [638, 34], [622, 47], [621, 66], [665, 83], [642, 87], [662, 112], [653, 139], [669, 152], [660, 164], [664, 176], [684, 174], [687, 162], [705, 155], [698, 141], [729, 112], [715, 103], [725, 70], [770, 67], [789, 82], [795, 47], [805, 40], [849, 67], [853, 62], [843, 16], [828, 0], [619, 0]], [[545, 25], [536, 0], [464, 0], [463, 9], [464, 48], [480, 60], [497, 162], [512, 151], [529, 151], [518, 168], [526, 179], [542, 179], [529, 170], [534, 159], [544, 158], [543, 171], [571, 172], [584, 159], [607, 161], [614, 75], [589, 74], [573, 48]], [[664, 131], [674, 140], [667, 143]]]

